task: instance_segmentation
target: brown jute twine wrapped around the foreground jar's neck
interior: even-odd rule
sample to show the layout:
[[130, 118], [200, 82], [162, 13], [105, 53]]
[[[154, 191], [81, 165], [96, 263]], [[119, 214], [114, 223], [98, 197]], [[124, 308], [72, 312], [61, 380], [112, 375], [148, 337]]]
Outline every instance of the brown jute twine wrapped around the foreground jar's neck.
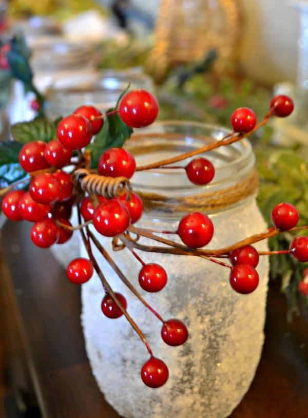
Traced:
[[253, 169], [244, 180], [215, 192], [204, 192], [180, 198], [168, 198], [168, 196], [138, 190], [136, 193], [143, 200], [145, 212], [216, 212], [254, 195], [257, 187], [257, 173]]

